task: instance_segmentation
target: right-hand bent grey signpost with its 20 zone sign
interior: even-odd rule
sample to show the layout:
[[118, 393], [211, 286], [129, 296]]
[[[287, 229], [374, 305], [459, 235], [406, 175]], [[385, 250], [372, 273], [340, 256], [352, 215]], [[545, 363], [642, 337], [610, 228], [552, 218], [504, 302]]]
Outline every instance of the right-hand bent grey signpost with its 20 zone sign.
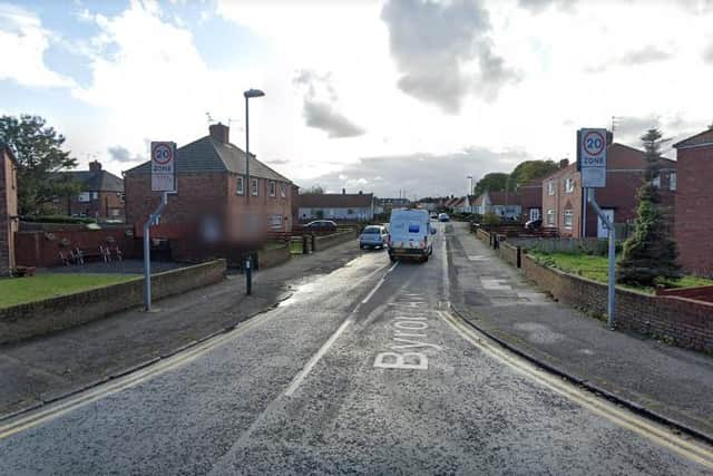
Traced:
[[[609, 329], [614, 329], [616, 327], [616, 234], [614, 230], [614, 221], [609, 220], [609, 217], [602, 211], [594, 196], [595, 188], [603, 188], [606, 186], [606, 129], [577, 130], [577, 171], [579, 171], [579, 174], [582, 176], [582, 187], [584, 191], [584, 196], [586, 196], [586, 203], [592, 204], [592, 207], [597, 212], [597, 215], [606, 226], [609, 236], [609, 286], [607, 297], [607, 327]], [[586, 223], [584, 224], [583, 230], [586, 231]]]

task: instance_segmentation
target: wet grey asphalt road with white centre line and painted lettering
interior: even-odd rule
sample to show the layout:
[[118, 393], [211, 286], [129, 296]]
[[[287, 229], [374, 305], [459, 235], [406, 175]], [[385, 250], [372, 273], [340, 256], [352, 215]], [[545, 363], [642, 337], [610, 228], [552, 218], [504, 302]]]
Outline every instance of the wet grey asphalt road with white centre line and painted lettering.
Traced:
[[0, 428], [0, 474], [713, 472], [460, 326], [439, 226], [428, 263], [368, 253], [202, 352]]

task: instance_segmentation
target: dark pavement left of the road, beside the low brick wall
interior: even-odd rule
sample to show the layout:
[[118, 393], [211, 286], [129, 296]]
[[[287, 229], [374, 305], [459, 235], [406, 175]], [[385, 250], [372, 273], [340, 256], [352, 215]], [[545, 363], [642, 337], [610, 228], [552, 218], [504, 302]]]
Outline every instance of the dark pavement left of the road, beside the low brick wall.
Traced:
[[[125, 375], [275, 307], [304, 282], [364, 254], [345, 243], [253, 274], [245, 295], [244, 275], [141, 309], [14, 344], [0, 346], [0, 420]], [[175, 263], [152, 263], [154, 271]], [[87, 263], [56, 272], [140, 272], [140, 260]], [[114, 270], [114, 271], [113, 271]]]

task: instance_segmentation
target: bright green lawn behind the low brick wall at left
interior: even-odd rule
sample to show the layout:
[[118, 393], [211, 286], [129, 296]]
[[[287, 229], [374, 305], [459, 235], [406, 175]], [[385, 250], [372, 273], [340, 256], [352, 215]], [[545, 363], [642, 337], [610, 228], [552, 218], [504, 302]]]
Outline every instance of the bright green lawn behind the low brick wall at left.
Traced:
[[135, 274], [43, 273], [0, 280], [0, 308], [71, 294], [136, 279]]

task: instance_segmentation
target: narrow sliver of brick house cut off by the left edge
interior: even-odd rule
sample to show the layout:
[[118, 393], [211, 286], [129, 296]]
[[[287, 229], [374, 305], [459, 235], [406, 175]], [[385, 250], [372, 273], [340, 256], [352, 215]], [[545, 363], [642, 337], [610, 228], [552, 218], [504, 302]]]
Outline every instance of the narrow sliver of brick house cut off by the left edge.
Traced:
[[0, 144], [0, 276], [16, 266], [14, 232], [18, 231], [17, 163], [9, 147]]

